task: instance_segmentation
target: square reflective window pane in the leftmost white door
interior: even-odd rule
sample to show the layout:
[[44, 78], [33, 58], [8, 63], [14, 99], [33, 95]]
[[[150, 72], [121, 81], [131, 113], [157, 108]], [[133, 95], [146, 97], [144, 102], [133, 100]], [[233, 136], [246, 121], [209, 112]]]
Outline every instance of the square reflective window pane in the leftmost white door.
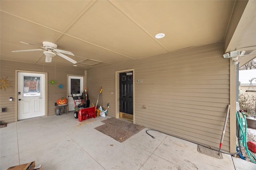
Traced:
[[41, 77], [37, 76], [23, 76], [23, 96], [34, 97], [41, 96], [40, 93]]

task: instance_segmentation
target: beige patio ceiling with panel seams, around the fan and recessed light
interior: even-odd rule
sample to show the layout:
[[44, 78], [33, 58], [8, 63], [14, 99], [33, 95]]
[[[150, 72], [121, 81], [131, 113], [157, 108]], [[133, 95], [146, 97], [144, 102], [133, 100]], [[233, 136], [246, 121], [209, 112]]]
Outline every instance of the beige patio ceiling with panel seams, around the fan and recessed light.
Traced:
[[[239, 21], [242, 26], [237, 24], [242, 31], [234, 31], [236, 39], [230, 40], [234, 43], [228, 49], [256, 46], [256, 3], [249, 2]], [[237, 5], [228, 0], [1, 0], [0, 57], [88, 70], [216, 43], [230, 31]], [[156, 39], [157, 33], [166, 36]], [[58, 49], [74, 53], [67, 56], [78, 66], [60, 56], [45, 63], [42, 51], [12, 53], [38, 49], [20, 41], [38, 46], [43, 41], [56, 43]]]

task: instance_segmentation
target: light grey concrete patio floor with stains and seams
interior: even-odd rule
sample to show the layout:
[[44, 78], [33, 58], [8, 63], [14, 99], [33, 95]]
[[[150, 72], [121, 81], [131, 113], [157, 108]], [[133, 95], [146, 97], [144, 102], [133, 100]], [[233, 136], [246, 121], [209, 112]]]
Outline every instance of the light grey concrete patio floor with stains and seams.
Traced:
[[43, 170], [253, 170], [256, 164], [147, 128], [123, 143], [94, 129], [110, 117], [79, 122], [73, 112], [37, 117], [0, 128], [0, 169], [36, 161]]

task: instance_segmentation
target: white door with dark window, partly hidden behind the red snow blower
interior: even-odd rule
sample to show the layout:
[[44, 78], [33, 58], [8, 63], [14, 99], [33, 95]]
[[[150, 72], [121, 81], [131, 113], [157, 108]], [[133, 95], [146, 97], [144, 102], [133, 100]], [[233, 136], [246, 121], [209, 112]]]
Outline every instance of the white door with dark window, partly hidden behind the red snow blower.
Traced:
[[[68, 76], [68, 111], [75, 110], [74, 100], [71, 97], [73, 96], [82, 96], [84, 86], [84, 77], [80, 76]], [[76, 100], [76, 104], [79, 103], [80, 100]]]

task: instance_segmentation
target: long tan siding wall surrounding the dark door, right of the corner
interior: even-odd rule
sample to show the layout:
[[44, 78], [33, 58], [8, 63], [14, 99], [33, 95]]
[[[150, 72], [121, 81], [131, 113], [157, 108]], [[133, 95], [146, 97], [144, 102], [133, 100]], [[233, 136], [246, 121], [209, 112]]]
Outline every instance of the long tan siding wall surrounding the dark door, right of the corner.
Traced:
[[[115, 72], [134, 69], [136, 124], [218, 148], [230, 102], [230, 61], [223, 54], [224, 43], [215, 43], [88, 70], [90, 99], [102, 86], [99, 104], [111, 103], [108, 115], [115, 117]], [[222, 149], [230, 150], [229, 141], [228, 121]]]

